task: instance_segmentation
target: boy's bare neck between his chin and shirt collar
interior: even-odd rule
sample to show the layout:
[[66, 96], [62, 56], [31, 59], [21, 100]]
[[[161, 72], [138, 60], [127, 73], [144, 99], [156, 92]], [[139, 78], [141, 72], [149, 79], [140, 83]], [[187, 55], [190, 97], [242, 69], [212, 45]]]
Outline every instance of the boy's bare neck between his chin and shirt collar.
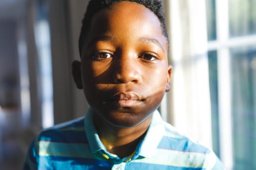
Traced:
[[129, 156], [136, 150], [139, 141], [146, 134], [151, 120], [152, 115], [137, 126], [121, 128], [109, 124], [94, 114], [94, 123], [100, 140], [108, 152], [114, 153], [120, 158]]

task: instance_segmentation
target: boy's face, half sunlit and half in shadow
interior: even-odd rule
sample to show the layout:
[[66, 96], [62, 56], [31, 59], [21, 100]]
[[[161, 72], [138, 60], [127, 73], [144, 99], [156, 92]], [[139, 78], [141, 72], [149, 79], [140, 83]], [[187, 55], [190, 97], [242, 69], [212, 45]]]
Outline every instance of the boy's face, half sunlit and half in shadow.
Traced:
[[94, 113], [117, 127], [149, 118], [171, 78], [158, 17], [140, 4], [119, 2], [93, 17], [84, 39], [81, 82]]

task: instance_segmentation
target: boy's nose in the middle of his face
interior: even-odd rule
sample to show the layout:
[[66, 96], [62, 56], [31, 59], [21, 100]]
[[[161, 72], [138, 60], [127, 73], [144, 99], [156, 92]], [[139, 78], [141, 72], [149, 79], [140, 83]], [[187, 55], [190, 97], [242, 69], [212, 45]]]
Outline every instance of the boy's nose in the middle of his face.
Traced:
[[135, 60], [119, 59], [112, 70], [115, 83], [139, 83], [141, 81], [141, 74]]

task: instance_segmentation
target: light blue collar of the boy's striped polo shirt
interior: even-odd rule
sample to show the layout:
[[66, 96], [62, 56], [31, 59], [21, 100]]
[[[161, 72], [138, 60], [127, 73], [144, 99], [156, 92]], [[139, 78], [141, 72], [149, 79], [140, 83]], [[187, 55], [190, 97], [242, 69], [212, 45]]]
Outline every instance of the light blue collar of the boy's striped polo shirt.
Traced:
[[[106, 152], [106, 147], [99, 139], [98, 132], [94, 125], [91, 108], [89, 108], [86, 113], [84, 124], [85, 133], [92, 153], [97, 153], [101, 150]], [[160, 140], [162, 139], [163, 133], [164, 126], [162, 123], [162, 118], [158, 110], [155, 110], [153, 112], [153, 117], [149, 129], [147, 130], [147, 133], [140, 145], [138, 154], [143, 157], [152, 157], [158, 147]]]

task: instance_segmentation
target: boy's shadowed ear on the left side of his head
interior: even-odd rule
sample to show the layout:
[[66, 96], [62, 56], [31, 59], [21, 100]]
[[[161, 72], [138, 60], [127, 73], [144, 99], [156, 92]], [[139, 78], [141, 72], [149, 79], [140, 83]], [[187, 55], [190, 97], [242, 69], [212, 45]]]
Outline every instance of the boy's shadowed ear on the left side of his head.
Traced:
[[72, 62], [72, 76], [78, 89], [82, 89], [81, 62], [75, 60]]

